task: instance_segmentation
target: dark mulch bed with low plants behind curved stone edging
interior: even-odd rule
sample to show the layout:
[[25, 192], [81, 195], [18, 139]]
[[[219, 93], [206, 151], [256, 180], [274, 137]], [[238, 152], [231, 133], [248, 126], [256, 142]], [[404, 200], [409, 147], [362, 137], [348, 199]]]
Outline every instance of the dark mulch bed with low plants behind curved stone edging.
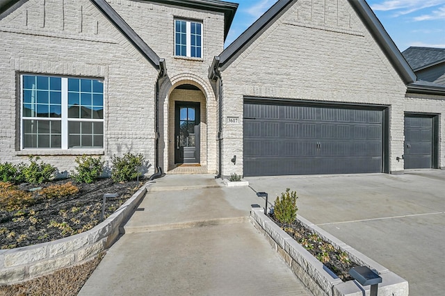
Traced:
[[111, 179], [86, 184], [71, 179], [43, 183], [38, 186], [24, 183], [19, 189], [45, 188], [54, 184], [72, 182], [79, 188], [70, 197], [39, 199], [18, 211], [0, 208], [0, 248], [11, 249], [49, 242], [92, 229], [102, 222], [104, 193], [118, 193], [117, 198], [106, 199], [105, 217], [111, 215], [138, 189], [136, 181], [113, 183]]

